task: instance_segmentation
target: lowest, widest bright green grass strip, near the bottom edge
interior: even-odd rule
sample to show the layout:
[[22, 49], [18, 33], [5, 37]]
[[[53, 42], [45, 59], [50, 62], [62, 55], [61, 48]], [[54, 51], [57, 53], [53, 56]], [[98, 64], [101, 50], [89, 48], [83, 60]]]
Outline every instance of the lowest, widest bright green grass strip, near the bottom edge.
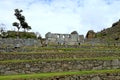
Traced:
[[31, 79], [31, 78], [34, 79], [34, 78], [48, 78], [48, 77], [54, 77], [54, 76], [65, 76], [65, 75], [89, 75], [89, 74], [104, 74], [104, 73], [120, 73], [120, 69], [18, 74], [18, 75], [6, 75], [6, 76], [4, 75], [4, 76], [0, 76], [0, 80]]

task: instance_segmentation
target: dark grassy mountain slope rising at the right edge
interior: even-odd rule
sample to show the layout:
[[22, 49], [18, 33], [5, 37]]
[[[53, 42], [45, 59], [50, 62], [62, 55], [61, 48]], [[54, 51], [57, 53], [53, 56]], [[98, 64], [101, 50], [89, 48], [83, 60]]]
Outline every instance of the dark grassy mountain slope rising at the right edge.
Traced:
[[112, 27], [96, 33], [96, 38], [109, 41], [120, 41], [120, 20], [113, 23]]

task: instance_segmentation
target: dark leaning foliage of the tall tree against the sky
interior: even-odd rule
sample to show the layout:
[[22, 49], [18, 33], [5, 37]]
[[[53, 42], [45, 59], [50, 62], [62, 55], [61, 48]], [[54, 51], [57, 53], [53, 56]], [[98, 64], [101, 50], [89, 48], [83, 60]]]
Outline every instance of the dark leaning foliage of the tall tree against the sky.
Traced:
[[[19, 10], [19, 9], [15, 9], [15, 16], [16, 18], [19, 20], [20, 22], [20, 27], [22, 27], [25, 31], [26, 30], [30, 30], [31, 29], [31, 26], [28, 25], [28, 23], [25, 21], [25, 16], [23, 16], [21, 14], [21, 12], [23, 12], [23, 10]], [[15, 26], [17, 27], [16, 23], [15, 23]]]

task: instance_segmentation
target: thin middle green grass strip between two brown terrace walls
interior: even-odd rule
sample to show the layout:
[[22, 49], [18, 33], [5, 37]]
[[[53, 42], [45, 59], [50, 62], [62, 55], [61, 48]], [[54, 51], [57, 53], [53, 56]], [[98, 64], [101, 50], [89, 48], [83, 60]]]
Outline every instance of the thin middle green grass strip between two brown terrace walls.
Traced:
[[56, 58], [56, 59], [35, 59], [35, 60], [4, 60], [0, 63], [20, 63], [20, 62], [37, 62], [37, 61], [74, 61], [74, 60], [113, 60], [120, 59], [120, 57], [96, 57], [96, 58]]

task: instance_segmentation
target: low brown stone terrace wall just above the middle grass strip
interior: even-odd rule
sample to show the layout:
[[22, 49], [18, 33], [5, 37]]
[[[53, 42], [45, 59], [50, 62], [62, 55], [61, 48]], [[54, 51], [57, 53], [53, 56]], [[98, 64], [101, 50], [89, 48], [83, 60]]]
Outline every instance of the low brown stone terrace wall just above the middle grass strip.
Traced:
[[[40, 51], [42, 52], [42, 51]], [[47, 53], [49, 52], [49, 53]], [[99, 51], [98, 51], [99, 52]], [[116, 51], [101, 51], [101, 52], [91, 52], [91, 51], [79, 51], [79, 52], [54, 52], [54, 51], [47, 51], [43, 53], [0, 53], [0, 60], [34, 60], [34, 59], [64, 59], [64, 58], [97, 58], [97, 57], [119, 57], [120, 53]]]

